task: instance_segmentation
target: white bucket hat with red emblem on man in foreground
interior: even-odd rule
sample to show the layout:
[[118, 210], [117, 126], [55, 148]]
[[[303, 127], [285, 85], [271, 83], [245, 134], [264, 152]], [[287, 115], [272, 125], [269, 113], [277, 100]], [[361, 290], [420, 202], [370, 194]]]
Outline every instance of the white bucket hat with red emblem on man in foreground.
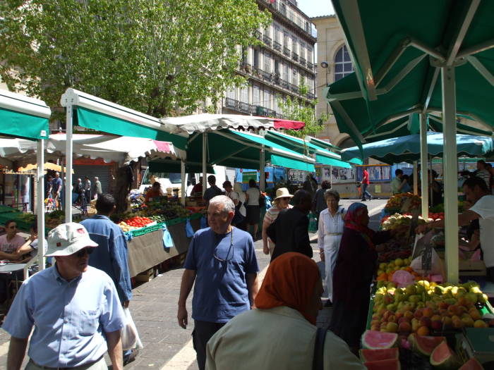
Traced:
[[88, 230], [80, 223], [62, 223], [48, 233], [48, 249], [45, 256], [70, 256], [85, 247], [97, 246], [89, 237]]

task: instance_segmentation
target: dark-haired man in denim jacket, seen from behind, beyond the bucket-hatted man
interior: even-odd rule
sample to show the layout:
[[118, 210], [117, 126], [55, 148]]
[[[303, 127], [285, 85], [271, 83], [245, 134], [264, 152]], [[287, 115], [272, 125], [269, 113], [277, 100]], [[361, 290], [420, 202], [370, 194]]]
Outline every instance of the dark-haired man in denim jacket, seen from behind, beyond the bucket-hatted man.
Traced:
[[[131, 273], [128, 269], [128, 249], [123, 231], [109, 216], [116, 209], [113, 195], [103, 194], [96, 200], [95, 216], [81, 222], [99, 247], [90, 255], [89, 265], [112, 278], [122, 307], [128, 307], [132, 298]], [[132, 362], [137, 350], [123, 353], [123, 363]]]

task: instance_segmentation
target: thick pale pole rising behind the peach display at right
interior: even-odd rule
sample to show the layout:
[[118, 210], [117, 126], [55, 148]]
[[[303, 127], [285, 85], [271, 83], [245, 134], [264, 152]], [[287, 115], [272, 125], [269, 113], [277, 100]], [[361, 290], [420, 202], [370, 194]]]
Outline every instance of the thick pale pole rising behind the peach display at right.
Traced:
[[456, 142], [456, 90], [454, 67], [441, 68], [442, 120], [444, 125], [444, 186], [446, 274], [450, 283], [458, 283], [458, 188]]

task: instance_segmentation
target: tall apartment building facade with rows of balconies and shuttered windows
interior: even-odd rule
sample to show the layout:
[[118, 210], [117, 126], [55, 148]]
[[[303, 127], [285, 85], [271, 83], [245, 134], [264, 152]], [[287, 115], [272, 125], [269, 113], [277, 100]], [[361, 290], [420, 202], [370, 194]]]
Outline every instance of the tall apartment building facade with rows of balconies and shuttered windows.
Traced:
[[[222, 99], [222, 113], [282, 118], [279, 100], [315, 99], [315, 25], [296, 0], [256, 0], [272, 14], [272, 23], [256, 32], [263, 43], [241, 50], [238, 72], [248, 79], [244, 87], [231, 87]], [[240, 51], [240, 50], [239, 50]], [[301, 84], [306, 89], [300, 89]]]

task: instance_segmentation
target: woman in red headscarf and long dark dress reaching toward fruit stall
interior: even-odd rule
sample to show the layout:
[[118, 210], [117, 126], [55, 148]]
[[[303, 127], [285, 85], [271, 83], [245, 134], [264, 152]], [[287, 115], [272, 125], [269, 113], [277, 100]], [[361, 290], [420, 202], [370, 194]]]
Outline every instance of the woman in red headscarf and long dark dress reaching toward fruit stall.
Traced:
[[356, 352], [366, 329], [370, 283], [378, 267], [375, 245], [390, 238], [389, 231], [368, 228], [369, 215], [363, 203], [349, 206], [342, 241], [333, 272], [333, 312], [330, 329]]

